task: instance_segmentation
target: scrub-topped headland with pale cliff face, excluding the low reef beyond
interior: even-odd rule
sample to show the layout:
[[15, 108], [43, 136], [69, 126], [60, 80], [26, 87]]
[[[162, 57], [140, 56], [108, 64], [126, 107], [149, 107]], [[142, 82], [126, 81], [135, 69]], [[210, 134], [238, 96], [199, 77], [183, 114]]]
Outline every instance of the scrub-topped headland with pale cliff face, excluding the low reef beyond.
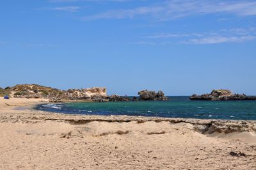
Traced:
[[10, 97], [49, 98], [52, 100], [90, 100], [94, 96], [105, 97], [106, 88], [68, 89], [67, 91], [40, 86], [38, 84], [18, 84], [8, 88]]

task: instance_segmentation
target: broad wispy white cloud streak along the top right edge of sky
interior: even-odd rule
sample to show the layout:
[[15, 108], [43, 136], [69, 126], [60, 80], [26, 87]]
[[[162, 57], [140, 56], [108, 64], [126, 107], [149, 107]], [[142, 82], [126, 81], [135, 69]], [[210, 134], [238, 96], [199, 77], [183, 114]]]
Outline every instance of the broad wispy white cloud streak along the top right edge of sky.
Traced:
[[161, 21], [177, 19], [189, 15], [221, 13], [237, 16], [256, 15], [256, 1], [172, 0], [127, 10], [109, 10], [95, 15], [85, 16], [83, 20], [131, 19], [145, 16]]

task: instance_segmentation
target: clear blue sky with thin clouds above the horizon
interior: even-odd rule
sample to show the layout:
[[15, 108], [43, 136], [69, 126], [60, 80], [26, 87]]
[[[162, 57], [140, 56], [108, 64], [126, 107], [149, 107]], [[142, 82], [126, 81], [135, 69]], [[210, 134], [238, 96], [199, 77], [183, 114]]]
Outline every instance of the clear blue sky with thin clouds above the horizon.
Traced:
[[0, 87], [256, 95], [256, 1], [3, 0]]

